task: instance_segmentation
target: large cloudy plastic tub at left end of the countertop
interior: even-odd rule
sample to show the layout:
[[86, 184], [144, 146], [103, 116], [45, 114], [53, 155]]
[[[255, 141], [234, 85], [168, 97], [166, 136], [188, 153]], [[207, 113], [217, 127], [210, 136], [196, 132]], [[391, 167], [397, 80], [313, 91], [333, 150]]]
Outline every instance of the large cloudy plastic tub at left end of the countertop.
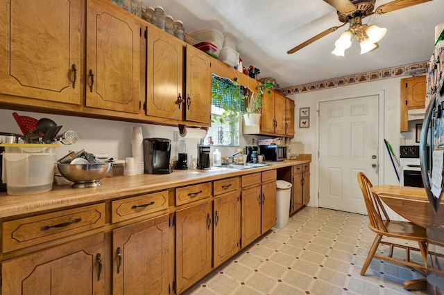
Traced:
[[3, 182], [9, 195], [31, 195], [48, 192], [53, 188], [53, 144], [10, 143], [2, 144]]

